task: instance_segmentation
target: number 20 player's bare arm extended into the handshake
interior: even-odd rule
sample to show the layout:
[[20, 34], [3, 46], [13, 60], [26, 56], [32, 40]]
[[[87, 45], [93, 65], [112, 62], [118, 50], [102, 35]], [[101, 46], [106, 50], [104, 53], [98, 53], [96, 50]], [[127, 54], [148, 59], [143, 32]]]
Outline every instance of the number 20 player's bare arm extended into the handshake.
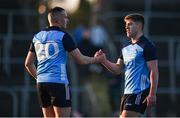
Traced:
[[70, 55], [76, 60], [79, 64], [92, 64], [98, 62], [98, 58], [88, 57], [83, 55], [78, 48], [70, 52]]

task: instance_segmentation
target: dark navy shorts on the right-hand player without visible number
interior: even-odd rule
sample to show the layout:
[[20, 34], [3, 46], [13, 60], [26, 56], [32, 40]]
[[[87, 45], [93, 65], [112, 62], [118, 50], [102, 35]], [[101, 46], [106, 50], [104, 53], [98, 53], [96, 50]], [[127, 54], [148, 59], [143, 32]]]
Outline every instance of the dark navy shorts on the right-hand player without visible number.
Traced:
[[121, 99], [120, 114], [123, 110], [144, 114], [147, 102], [143, 103], [149, 94], [149, 88], [138, 94], [124, 94]]

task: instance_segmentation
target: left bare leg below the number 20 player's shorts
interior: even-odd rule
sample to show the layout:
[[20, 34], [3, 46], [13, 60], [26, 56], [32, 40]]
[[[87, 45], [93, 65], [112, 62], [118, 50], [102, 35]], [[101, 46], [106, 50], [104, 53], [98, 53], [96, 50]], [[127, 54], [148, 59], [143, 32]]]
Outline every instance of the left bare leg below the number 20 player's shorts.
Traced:
[[55, 117], [55, 112], [52, 106], [48, 106], [48, 107], [43, 107], [42, 108], [42, 112], [43, 112], [43, 116], [44, 118], [47, 117]]

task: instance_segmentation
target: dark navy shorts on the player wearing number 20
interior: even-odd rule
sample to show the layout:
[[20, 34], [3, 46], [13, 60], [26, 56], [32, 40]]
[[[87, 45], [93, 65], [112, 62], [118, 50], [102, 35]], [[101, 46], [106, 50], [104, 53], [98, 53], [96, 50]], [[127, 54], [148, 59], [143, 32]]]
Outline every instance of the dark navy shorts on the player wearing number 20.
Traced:
[[69, 85], [60, 83], [37, 83], [38, 99], [41, 107], [71, 107]]

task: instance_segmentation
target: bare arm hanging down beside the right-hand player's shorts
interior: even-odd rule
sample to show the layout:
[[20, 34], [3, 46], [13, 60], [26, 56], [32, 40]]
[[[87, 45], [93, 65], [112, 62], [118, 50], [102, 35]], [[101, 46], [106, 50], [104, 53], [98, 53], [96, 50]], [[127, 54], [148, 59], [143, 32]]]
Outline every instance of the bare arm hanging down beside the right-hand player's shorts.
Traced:
[[146, 63], [149, 69], [149, 78], [151, 82], [149, 95], [147, 97], [147, 106], [152, 106], [156, 104], [156, 93], [159, 79], [158, 60], [151, 60]]

